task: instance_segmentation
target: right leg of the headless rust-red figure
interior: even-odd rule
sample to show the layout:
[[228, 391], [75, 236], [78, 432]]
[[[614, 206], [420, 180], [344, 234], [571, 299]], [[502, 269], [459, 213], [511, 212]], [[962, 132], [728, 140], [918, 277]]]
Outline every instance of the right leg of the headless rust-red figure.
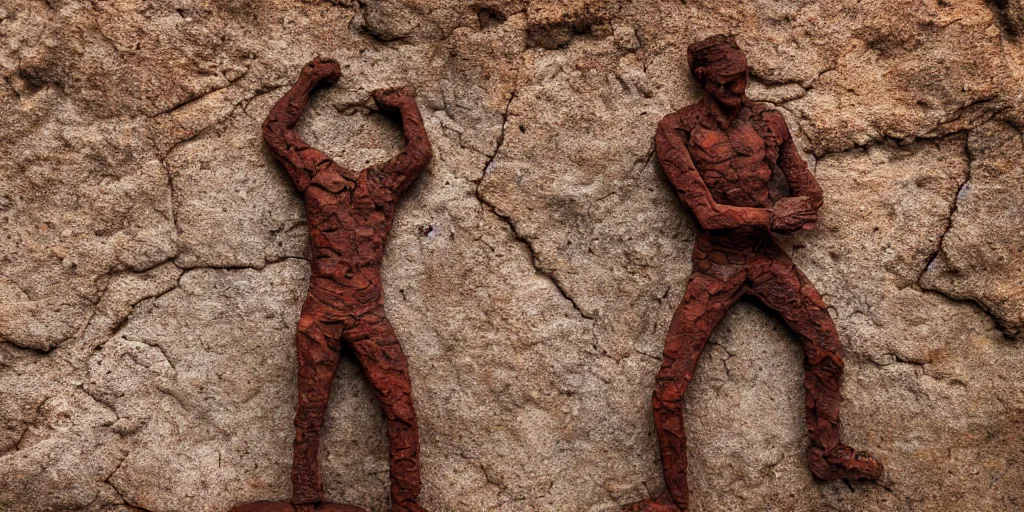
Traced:
[[346, 331], [345, 341], [351, 344], [387, 423], [391, 510], [422, 511], [416, 504], [420, 494], [420, 433], [409, 367], [384, 308], [364, 314], [354, 328]]

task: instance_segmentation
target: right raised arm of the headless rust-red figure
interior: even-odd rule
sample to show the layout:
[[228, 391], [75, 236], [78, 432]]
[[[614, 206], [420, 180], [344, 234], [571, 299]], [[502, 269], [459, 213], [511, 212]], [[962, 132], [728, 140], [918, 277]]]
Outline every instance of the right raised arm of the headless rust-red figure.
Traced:
[[416, 95], [410, 87], [378, 89], [374, 101], [384, 112], [398, 112], [406, 147], [391, 160], [371, 169], [371, 174], [395, 194], [406, 189], [427, 168], [433, 156], [430, 140], [423, 128], [423, 118], [416, 105]]

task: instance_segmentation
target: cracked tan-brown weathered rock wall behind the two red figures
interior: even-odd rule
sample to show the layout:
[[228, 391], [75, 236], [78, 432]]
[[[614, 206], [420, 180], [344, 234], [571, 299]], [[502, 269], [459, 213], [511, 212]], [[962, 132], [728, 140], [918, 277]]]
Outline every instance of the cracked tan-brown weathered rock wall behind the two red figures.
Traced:
[[[851, 444], [805, 465], [801, 351], [741, 303], [688, 400], [694, 510], [1024, 508], [1020, 1], [5, 0], [0, 5], [0, 509], [226, 510], [290, 493], [301, 201], [259, 124], [322, 54], [300, 126], [361, 167], [434, 143], [384, 266], [431, 510], [611, 511], [662, 489], [649, 406], [691, 220], [652, 159], [690, 42], [736, 34], [752, 97], [825, 194], [787, 238], [847, 352]], [[351, 361], [333, 501], [386, 509]]]

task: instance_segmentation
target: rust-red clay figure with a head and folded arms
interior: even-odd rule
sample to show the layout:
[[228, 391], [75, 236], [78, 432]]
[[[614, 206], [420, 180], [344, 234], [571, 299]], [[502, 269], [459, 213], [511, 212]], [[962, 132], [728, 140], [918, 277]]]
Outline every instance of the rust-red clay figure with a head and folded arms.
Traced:
[[654, 139], [665, 174], [698, 224], [693, 271], [669, 327], [652, 399], [667, 492], [625, 510], [687, 509], [683, 398], [712, 331], [745, 294], [778, 311], [803, 342], [811, 472], [824, 480], [877, 480], [882, 463], [840, 441], [843, 350], [836, 327], [771, 234], [813, 229], [821, 188], [782, 116], [746, 98], [746, 57], [732, 37], [694, 43], [687, 57], [703, 99], [666, 116]]

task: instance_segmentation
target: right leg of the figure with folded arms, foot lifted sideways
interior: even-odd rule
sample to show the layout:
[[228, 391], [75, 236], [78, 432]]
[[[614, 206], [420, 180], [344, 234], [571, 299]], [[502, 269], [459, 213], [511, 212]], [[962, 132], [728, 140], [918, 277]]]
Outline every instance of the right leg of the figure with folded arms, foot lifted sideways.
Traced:
[[756, 266], [750, 279], [752, 293], [778, 311], [804, 345], [811, 472], [823, 480], [879, 479], [882, 463], [878, 459], [840, 441], [843, 349], [821, 296], [784, 254]]

